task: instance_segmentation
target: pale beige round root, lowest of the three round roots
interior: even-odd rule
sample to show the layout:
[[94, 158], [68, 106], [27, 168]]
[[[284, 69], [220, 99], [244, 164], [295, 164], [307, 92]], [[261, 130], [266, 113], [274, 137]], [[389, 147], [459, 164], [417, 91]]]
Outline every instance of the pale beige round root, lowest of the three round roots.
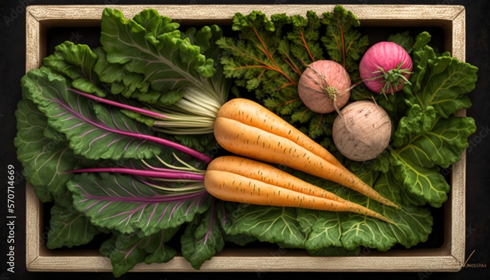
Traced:
[[392, 123], [383, 108], [370, 101], [345, 106], [335, 119], [332, 136], [335, 146], [347, 158], [373, 159], [390, 142]]

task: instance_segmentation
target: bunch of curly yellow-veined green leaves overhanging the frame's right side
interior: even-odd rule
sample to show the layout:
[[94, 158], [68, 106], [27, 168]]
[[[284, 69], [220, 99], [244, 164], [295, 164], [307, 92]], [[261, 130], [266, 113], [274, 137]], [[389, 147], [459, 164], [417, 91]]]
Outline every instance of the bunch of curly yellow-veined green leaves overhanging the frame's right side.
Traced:
[[404, 201], [440, 207], [449, 184], [440, 173], [461, 158], [474, 120], [453, 116], [471, 105], [466, 93], [475, 87], [477, 68], [445, 52], [437, 54], [422, 32], [414, 43], [411, 85], [403, 87], [408, 106], [392, 137], [390, 174], [406, 193]]

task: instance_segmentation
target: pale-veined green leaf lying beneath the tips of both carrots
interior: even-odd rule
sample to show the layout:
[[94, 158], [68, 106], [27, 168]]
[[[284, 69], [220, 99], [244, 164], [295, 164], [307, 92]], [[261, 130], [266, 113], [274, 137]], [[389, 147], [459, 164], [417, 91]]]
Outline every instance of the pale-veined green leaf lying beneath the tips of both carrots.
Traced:
[[[386, 251], [397, 243], [409, 248], [427, 240], [432, 230], [430, 211], [412, 204], [413, 197], [408, 197], [403, 192], [400, 184], [393, 180], [391, 173], [378, 172], [363, 163], [353, 163], [349, 167], [359, 178], [373, 185], [383, 197], [401, 205], [401, 209], [379, 204], [328, 180], [310, 175], [304, 176], [304, 180], [351, 202], [366, 206], [391, 219], [395, 224], [351, 212], [297, 209], [298, 222], [306, 234], [304, 247], [311, 254], [335, 255], [337, 252], [348, 255], [359, 253], [359, 246]], [[295, 172], [294, 175], [299, 174]]]

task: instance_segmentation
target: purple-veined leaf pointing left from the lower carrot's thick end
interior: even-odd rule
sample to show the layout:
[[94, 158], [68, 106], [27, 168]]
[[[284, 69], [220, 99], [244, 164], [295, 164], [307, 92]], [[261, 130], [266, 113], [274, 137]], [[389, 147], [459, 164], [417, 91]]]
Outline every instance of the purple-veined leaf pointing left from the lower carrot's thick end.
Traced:
[[89, 173], [67, 183], [73, 205], [92, 224], [123, 233], [149, 236], [190, 222], [212, 204], [207, 192], [172, 196], [146, 181], [123, 174]]

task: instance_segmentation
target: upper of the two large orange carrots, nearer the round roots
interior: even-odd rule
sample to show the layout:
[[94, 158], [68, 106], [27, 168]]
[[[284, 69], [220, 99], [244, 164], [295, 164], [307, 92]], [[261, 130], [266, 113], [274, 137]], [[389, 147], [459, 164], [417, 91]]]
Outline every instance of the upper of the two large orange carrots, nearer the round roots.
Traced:
[[356, 177], [318, 143], [256, 102], [239, 98], [226, 102], [218, 112], [214, 134], [229, 152], [286, 165], [398, 207]]

